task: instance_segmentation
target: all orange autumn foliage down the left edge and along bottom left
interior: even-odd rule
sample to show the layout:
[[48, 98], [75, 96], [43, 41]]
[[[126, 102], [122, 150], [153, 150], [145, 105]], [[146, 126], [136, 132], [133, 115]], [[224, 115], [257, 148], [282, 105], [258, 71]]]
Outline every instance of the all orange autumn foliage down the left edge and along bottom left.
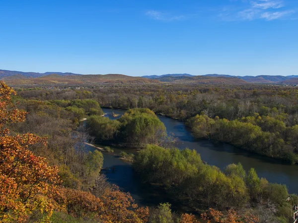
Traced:
[[[58, 168], [27, 148], [46, 143], [33, 134], [10, 136], [7, 125], [24, 121], [25, 112], [11, 103], [11, 88], [0, 82], [0, 222], [27, 222], [34, 211], [49, 222], [54, 209], [75, 217], [92, 216], [103, 223], [145, 223], [148, 208], [138, 208], [130, 194], [117, 187], [102, 198], [89, 192], [58, 187]], [[39, 219], [40, 221], [40, 219]]]

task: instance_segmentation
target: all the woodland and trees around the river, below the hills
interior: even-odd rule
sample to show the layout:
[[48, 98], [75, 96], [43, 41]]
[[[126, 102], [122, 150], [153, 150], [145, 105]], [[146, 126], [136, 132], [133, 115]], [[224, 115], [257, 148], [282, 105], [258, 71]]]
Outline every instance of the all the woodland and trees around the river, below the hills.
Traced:
[[[156, 84], [16, 90], [15, 96], [1, 82], [0, 221], [198, 221], [171, 212], [170, 204], [140, 208], [128, 193], [110, 185], [100, 173], [102, 153], [85, 150], [84, 143], [94, 137], [104, 144], [143, 148], [131, 161], [144, 183], [164, 190], [193, 214], [202, 213], [203, 219], [293, 220], [298, 197], [289, 195], [285, 185], [259, 178], [253, 168], [246, 172], [241, 164], [221, 171], [193, 150], [179, 151], [165, 143], [171, 139], [155, 113], [186, 121], [195, 137], [295, 164], [296, 88]], [[110, 120], [102, 117], [101, 107], [128, 111]], [[88, 128], [78, 127], [84, 117]]]

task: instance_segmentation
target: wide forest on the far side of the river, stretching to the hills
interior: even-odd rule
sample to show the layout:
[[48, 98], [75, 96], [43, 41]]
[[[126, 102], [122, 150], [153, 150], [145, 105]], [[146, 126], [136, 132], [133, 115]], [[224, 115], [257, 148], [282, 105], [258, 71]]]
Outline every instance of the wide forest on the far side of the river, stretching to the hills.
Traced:
[[[228, 142], [292, 164], [298, 162], [296, 87], [173, 84], [111, 85], [63, 91], [19, 90], [20, 95], [27, 99], [96, 99], [102, 107], [148, 108], [155, 113], [184, 121], [197, 114], [206, 115], [205, 117], [214, 119], [215, 124], [213, 121], [207, 125], [201, 123], [197, 116], [196, 126], [190, 125], [196, 137]], [[194, 119], [190, 120], [192, 122]], [[238, 131], [229, 130], [233, 128]], [[205, 133], [197, 134], [198, 129]], [[221, 131], [227, 130], [229, 135], [223, 137]], [[239, 134], [246, 136], [245, 139], [242, 140]]]

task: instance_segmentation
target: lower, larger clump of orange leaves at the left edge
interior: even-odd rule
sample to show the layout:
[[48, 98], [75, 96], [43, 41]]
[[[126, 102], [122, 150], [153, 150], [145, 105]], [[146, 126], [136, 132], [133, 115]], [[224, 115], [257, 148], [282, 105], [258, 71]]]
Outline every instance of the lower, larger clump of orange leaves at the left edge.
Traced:
[[0, 221], [26, 221], [33, 210], [53, 202], [50, 194], [59, 183], [58, 168], [26, 149], [37, 140], [32, 137], [0, 137]]

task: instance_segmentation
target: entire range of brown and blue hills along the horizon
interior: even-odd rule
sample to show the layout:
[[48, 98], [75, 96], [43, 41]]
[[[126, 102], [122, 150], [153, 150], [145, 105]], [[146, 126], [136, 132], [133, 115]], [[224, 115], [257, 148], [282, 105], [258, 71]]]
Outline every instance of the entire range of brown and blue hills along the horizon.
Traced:
[[0, 80], [15, 85], [50, 84], [99, 84], [99, 83], [181, 83], [181, 84], [298, 84], [298, 75], [291, 76], [233, 76], [206, 74], [195, 76], [188, 73], [132, 77], [123, 74], [76, 74], [62, 72], [21, 72], [0, 70]]

